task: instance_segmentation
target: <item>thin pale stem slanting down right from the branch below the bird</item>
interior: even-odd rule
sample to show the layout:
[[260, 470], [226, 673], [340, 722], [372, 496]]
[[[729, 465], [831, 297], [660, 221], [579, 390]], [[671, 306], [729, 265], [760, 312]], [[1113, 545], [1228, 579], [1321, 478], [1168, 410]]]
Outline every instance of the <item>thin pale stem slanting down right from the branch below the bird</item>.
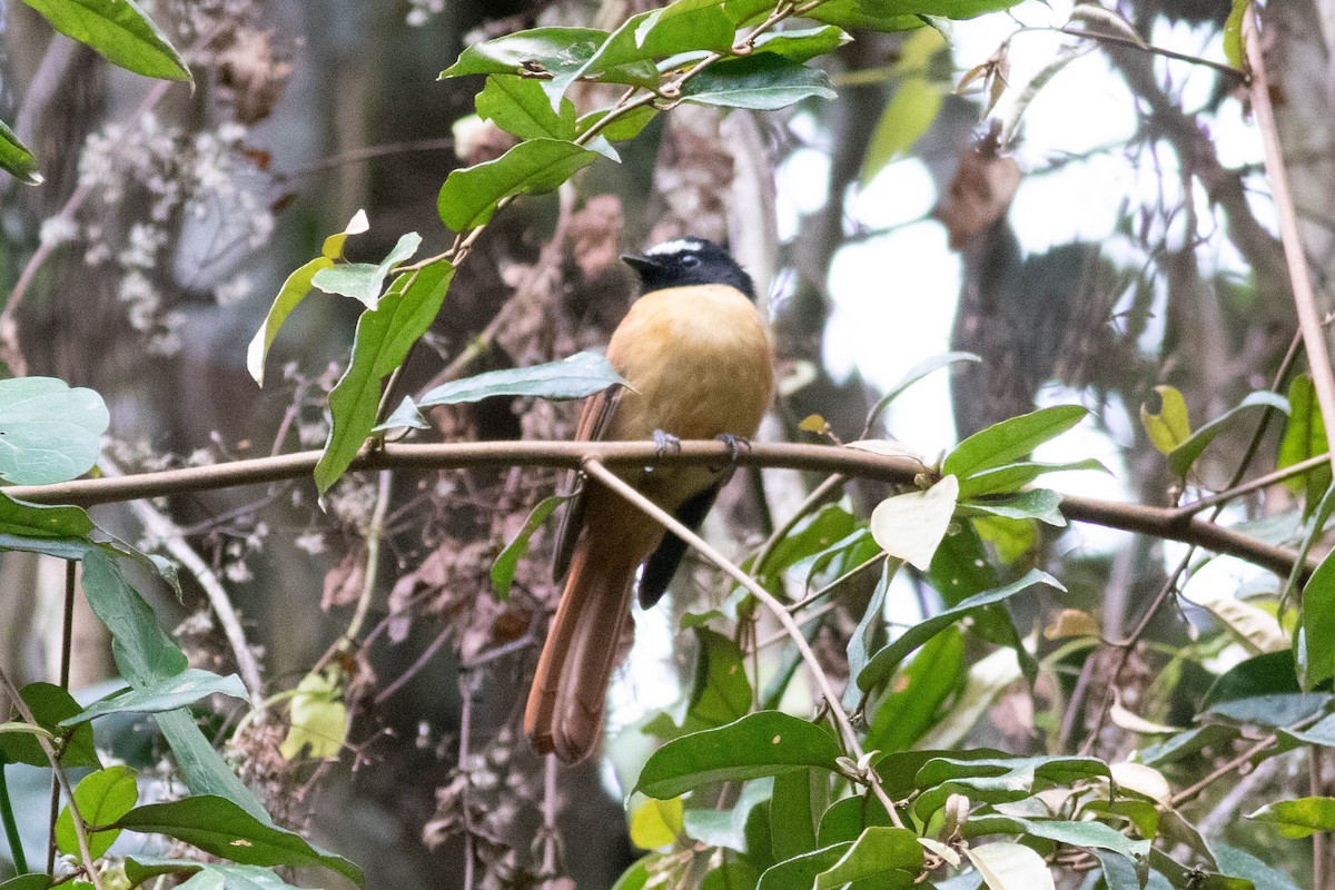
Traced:
[[[810, 644], [806, 642], [802, 628], [797, 624], [793, 616], [788, 614], [788, 610], [784, 608], [784, 603], [765, 590], [754, 578], [744, 572], [736, 563], [714, 550], [709, 542], [677, 522], [672, 514], [642, 495], [630, 483], [603, 466], [601, 460], [597, 458], [586, 458], [583, 462], [583, 470], [590, 476], [594, 476], [598, 482], [607, 486], [615, 494], [621, 495], [629, 503], [639, 508], [645, 515], [651, 516], [665, 528], [690, 544], [705, 559], [714, 563], [733, 580], [745, 587], [748, 592], [758, 599], [770, 611], [770, 614], [774, 615], [776, 620], [778, 620], [784, 630], [788, 631], [793, 644], [797, 646], [797, 651], [801, 654], [802, 662], [806, 663], [806, 669], [810, 671], [812, 679], [816, 681], [816, 686], [820, 689], [821, 697], [825, 699], [825, 707], [829, 709], [830, 715], [834, 718], [834, 723], [838, 726], [840, 735], [844, 738], [845, 750], [857, 759], [858, 766], [861, 767], [862, 761], [865, 759], [865, 751], [862, 751], [862, 743], [858, 741], [857, 731], [853, 729], [853, 722], [840, 705], [838, 695], [834, 693], [834, 687], [830, 685], [829, 677], [825, 675], [825, 670], [816, 658], [816, 652], [812, 651]], [[861, 771], [858, 778], [872, 787], [872, 791], [885, 807], [885, 811], [889, 814], [890, 821], [894, 822], [894, 826], [902, 829], [904, 822], [900, 819], [898, 811], [894, 809], [894, 802], [890, 801], [890, 797], [881, 786], [881, 778], [876, 774], [876, 770], [866, 767]]]

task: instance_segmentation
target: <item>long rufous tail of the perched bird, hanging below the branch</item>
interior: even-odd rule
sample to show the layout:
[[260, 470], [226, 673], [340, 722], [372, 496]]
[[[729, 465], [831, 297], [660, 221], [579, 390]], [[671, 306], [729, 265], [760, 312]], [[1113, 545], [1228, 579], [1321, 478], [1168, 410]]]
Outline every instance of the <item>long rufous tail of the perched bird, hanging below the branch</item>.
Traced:
[[533, 747], [566, 763], [586, 758], [601, 735], [638, 564], [626, 550], [587, 532], [579, 542], [529, 691], [523, 731]]

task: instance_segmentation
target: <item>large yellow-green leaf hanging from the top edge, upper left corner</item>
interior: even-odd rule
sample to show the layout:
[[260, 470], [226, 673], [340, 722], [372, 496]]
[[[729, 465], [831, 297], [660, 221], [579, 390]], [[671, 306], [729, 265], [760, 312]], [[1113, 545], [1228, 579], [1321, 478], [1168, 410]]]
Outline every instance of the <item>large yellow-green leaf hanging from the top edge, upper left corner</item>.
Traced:
[[24, 0], [60, 33], [136, 75], [194, 83], [186, 61], [134, 0]]

